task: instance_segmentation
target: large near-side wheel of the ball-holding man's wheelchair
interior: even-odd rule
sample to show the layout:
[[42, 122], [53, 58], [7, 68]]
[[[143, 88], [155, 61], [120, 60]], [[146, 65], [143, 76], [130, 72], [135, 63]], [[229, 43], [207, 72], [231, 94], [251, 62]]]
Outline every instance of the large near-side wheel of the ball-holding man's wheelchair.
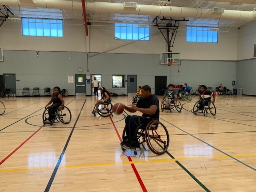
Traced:
[[145, 139], [150, 151], [154, 154], [163, 154], [169, 146], [169, 134], [161, 122], [153, 120], [148, 123], [145, 130]]

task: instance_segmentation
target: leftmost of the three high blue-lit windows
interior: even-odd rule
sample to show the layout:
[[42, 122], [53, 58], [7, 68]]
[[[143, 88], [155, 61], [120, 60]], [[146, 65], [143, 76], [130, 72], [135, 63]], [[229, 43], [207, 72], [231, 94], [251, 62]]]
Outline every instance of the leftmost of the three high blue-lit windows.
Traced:
[[22, 35], [63, 37], [63, 22], [57, 19], [22, 18]]

